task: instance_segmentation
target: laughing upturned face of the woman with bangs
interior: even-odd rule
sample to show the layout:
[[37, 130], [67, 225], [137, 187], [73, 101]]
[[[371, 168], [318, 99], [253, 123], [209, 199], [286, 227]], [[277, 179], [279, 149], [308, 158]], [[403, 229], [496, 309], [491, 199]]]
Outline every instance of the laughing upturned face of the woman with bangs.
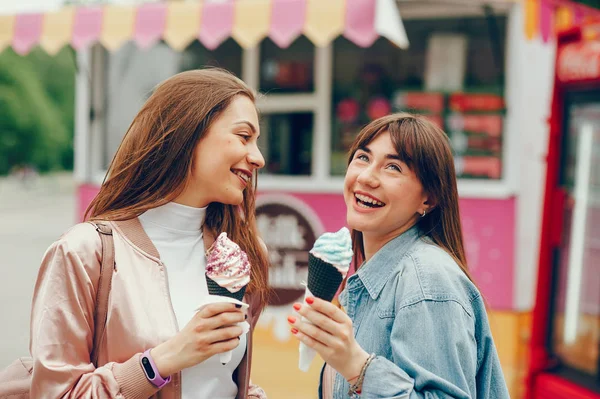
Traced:
[[415, 225], [429, 205], [415, 173], [385, 131], [353, 155], [344, 180], [348, 226], [385, 243]]

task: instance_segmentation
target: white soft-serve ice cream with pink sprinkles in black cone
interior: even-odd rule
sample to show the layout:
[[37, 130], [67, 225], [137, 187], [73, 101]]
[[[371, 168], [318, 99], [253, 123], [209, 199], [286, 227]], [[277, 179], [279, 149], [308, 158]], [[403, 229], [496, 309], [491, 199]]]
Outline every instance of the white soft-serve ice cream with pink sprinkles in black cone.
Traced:
[[219, 234], [207, 252], [206, 284], [211, 295], [242, 300], [250, 282], [248, 255], [239, 245]]

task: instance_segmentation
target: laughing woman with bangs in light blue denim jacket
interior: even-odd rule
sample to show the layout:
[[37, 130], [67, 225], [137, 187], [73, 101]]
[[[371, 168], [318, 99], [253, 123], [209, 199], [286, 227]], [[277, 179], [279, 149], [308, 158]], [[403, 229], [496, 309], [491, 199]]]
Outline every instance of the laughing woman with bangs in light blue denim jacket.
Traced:
[[483, 298], [467, 270], [445, 133], [389, 115], [356, 138], [344, 183], [354, 264], [339, 301], [294, 308], [325, 360], [320, 397], [508, 398]]

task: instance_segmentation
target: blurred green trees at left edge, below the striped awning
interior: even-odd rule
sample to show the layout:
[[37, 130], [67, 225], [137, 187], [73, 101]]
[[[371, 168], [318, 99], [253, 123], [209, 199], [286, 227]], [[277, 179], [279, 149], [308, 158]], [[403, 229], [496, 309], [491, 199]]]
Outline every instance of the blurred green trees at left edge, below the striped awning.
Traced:
[[0, 54], [0, 175], [29, 165], [73, 168], [75, 55]]

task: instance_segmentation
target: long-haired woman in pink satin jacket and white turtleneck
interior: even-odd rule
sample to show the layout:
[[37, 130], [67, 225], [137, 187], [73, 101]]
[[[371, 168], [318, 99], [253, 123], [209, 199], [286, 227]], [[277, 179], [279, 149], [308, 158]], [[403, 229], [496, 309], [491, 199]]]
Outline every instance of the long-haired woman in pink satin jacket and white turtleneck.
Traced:
[[[109, 221], [115, 247], [101, 343], [92, 348], [102, 245], [82, 223], [48, 249], [39, 272], [32, 397], [265, 397], [249, 380], [252, 329], [267, 291], [254, 214], [264, 166], [258, 136], [254, 94], [227, 72], [188, 71], [156, 88], [86, 213]], [[250, 306], [196, 312], [208, 295], [205, 252], [221, 232], [252, 265]], [[248, 334], [238, 325], [244, 320]], [[218, 355], [228, 351], [231, 361], [222, 364]]]

